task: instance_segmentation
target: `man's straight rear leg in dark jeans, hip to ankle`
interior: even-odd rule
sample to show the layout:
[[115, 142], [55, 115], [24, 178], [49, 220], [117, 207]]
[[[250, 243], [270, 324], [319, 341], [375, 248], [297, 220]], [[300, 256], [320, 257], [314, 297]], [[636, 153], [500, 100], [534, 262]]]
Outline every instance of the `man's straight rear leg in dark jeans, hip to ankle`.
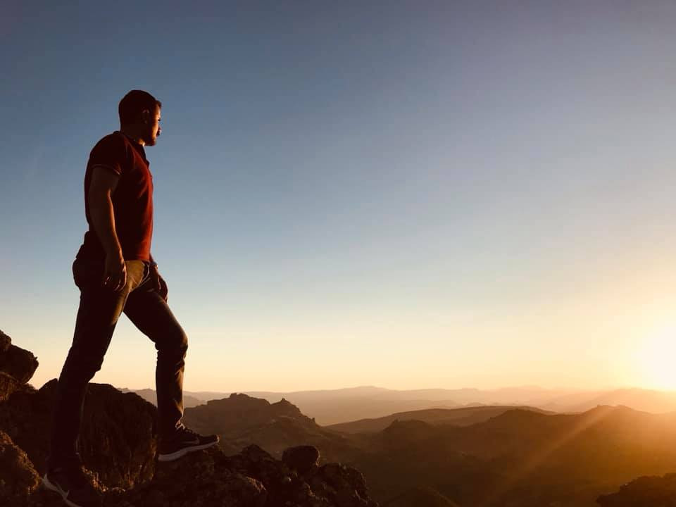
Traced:
[[79, 461], [77, 437], [87, 384], [101, 369], [115, 324], [130, 290], [138, 286], [147, 268], [141, 261], [127, 263], [127, 285], [120, 292], [101, 287], [102, 266], [75, 261], [73, 276], [80, 288], [73, 345], [68, 351], [61, 375], [51, 428], [49, 466]]

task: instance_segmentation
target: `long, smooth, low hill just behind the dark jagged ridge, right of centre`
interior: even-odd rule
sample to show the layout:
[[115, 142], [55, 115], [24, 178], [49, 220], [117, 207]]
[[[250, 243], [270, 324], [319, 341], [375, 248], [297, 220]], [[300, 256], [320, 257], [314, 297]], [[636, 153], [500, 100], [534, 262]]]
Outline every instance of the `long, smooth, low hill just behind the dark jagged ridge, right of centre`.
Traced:
[[336, 430], [344, 433], [372, 433], [384, 430], [394, 421], [418, 420], [434, 425], [452, 423], [458, 426], [468, 426], [481, 423], [484, 420], [493, 418], [508, 410], [522, 408], [539, 413], [553, 413], [542, 411], [533, 407], [515, 407], [515, 406], [478, 406], [465, 408], [430, 408], [428, 410], [419, 410], [411, 412], [399, 412], [387, 415], [377, 419], [361, 419], [351, 423], [341, 423], [337, 425], [326, 426], [327, 429]]

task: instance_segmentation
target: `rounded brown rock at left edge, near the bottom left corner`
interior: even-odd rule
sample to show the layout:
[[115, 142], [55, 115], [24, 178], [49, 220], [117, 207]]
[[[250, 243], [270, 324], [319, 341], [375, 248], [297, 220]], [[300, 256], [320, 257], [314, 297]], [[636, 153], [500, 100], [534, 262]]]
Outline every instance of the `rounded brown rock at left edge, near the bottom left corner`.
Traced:
[[40, 477], [26, 453], [0, 431], [0, 505], [27, 505], [39, 484]]

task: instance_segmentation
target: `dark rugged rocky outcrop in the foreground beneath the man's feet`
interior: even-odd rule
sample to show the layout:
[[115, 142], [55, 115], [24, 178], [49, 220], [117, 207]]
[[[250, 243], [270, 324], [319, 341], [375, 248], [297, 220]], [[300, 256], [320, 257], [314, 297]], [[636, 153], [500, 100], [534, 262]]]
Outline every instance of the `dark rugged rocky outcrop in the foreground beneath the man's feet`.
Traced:
[[[5, 336], [0, 337], [0, 353]], [[11, 344], [5, 347], [10, 349]], [[18, 368], [12, 371], [27, 372], [30, 361], [20, 362], [24, 366], [11, 365]], [[36, 390], [6, 375], [13, 384], [0, 401], [0, 505], [61, 506], [60, 496], [39, 487], [57, 382]], [[297, 415], [298, 409], [285, 403], [278, 405], [282, 413]], [[80, 453], [104, 507], [377, 507], [358, 470], [340, 463], [319, 466], [320, 453], [313, 446], [286, 449], [284, 461], [249, 445], [233, 456], [213, 446], [158, 463], [156, 408], [106, 384], [89, 384]]]

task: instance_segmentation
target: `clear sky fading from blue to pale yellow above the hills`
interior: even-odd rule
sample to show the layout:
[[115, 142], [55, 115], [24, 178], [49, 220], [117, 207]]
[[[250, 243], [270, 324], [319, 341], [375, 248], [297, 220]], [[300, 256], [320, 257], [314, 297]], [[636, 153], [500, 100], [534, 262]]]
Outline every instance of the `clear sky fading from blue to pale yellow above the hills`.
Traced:
[[[676, 4], [3, 2], [0, 330], [57, 377], [89, 151], [163, 104], [184, 389], [676, 389]], [[94, 382], [154, 387], [124, 316]]]

